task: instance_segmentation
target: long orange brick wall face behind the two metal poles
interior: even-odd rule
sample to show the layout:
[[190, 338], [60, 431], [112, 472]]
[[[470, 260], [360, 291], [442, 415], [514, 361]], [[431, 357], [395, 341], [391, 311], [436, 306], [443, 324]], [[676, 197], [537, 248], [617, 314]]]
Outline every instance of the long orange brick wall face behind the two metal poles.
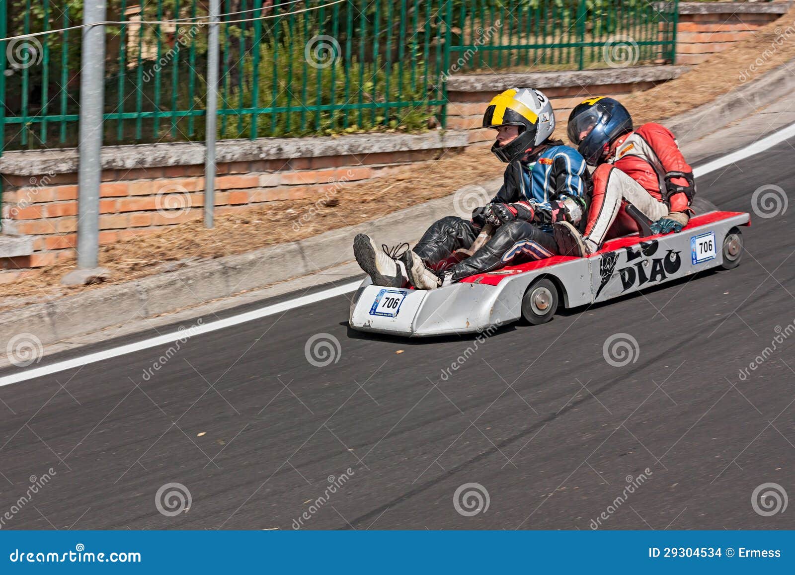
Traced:
[[[458, 138], [466, 143], [466, 138]], [[410, 162], [432, 161], [445, 150], [224, 162], [215, 177], [215, 213], [273, 200], [320, 198], [339, 181], [389, 176]], [[452, 148], [460, 150], [460, 148]], [[77, 174], [3, 174], [3, 233], [33, 237], [33, 253], [0, 258], [0, 283], [22, 269], [73, 258], [77, 243]], [[99, 243], [149, 234], [204, 217], [204, 165], [105, 170], [99, 201]]]

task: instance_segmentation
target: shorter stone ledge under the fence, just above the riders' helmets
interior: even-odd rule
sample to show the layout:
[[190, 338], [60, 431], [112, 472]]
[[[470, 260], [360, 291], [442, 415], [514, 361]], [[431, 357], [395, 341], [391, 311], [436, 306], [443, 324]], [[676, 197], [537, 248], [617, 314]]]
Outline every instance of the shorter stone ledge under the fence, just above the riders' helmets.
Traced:
[[665, 82], [688, 71], [687, 66], [636, 66], [568, 72], [514, 72], [510, 74], [469, 74], [452, 76], [448, 91], [491, 92], [514, 86], [545, 87], [592, 86], [594, 84], [638, 84]]

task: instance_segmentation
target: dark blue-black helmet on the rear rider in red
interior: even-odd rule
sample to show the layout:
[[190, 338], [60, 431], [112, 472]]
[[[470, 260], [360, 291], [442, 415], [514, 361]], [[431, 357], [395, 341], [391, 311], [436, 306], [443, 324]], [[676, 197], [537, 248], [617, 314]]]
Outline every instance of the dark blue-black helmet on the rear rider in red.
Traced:
[[[568, 139], [590, 165], [596, 165], [616, 138], [632, 131], [632, 116], [618, 100], [589, 98], [568, 116]], [[584, 134], [584, 135], [583, 135]]]

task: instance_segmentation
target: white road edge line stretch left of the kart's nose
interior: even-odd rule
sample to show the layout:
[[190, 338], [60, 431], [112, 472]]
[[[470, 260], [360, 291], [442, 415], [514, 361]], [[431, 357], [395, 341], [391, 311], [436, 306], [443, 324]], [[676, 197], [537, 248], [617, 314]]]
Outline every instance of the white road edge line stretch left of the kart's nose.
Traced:
[[[289, 309], [301, 307], [301, 305], [308, 305], [313, 304], [316, 301], [328, 300], [330, 297], [341, 296], [344, 293], [350, 293], [354, 291], [360, 283], [362, 282], [348, 282], [339, 287], [323, 289], [317, 293], [295, 297], [292, 300], [281, 301], [281, 303], [273, 305], [266, 305], [264, 308], [254, 309], [253, 311], [246, 313], [239, 313], [236, 316], [227, 317], [223, 320], [211, 321], [208, 324], [202, 325], [194, 324], [190, 328], [190, 333], [192, 334], [191, 337], [200, 336], [204, 333], [215, 332], [223, 328], [229, 328], [232, 325], [243, 324], [246, 321], [258, 320], [261, 317], [272, 316], [276, 313], [282, 313]], [[96, 363], [98, 361], [103, 361], [104, 359], [118, 357], [119, 355], [139, 352], [142, 349], [154, 348], [158, 345], [171, 344], [177, 340], [183, 340], [187, 333], [188, 332], [186, 331], [164, 333], [162, 336], [150, 337], [148, 340], [137, 341], [134, 344], [120, 345], [118, 348], [106, 349], [102, 352], [89, 353], [88, 355], [80, 355], [74, 359], [64, 359], [64, 361], [51, 363], [50, 365], [34, 367], [33, 369], [26, 371], [19, 371], [17, 373], [6, 375], [5, 377], [0, 378], [0, 387], [10, 385], [11, 383], [17, 383], [26, 381], [28, 379], [41, 377], [42, 375], [50, 375], [58, 371], [72, 369], [72, 367], [80, 367], [82, 365], [86, 365], [87, 363]]]

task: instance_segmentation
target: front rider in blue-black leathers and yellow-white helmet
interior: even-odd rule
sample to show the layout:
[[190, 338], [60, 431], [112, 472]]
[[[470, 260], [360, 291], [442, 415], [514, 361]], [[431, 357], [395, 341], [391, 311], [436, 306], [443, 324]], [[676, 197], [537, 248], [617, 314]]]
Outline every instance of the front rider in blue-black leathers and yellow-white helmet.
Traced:
[[[491, 151], [508, 164], [502, 187], [491, 203], [472, 212], [471, 220], [447, 216], [433, 223], [413, 250], [398, 254], [356, 235], [353, 250], [375, 286], [417, 289], [448, 286], [472, 274], [557, 253], [552, 224], [579, 225], [591, 176], [580, 153], [553, 140], [555, 115], [549, 99], [530, 87], [503, 91], [491, 100], [483, 127], [497, 130]], [[471, 257], [468, 248], [489, 223], [494, 235]], [[403, 246], [408, 247], [405, 243]]]

